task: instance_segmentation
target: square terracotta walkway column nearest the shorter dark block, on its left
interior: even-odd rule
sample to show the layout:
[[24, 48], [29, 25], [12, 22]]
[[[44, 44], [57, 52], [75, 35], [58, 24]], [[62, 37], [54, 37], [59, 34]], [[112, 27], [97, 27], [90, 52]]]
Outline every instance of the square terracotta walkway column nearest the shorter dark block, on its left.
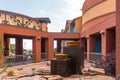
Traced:
[[48, 59], [51, 60], [54, 58], [54, 38], [48, 38]]

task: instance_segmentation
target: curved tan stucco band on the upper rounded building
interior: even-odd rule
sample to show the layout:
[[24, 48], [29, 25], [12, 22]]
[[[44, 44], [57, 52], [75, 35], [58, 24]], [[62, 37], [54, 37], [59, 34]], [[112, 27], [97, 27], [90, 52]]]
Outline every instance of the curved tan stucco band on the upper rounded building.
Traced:
[[[102, 15], [116, 11], [116, 0], [103, 1], [89, 10], [87, 10], [82, 17], [82, 25], [87, 24], [88, 21], [93, 20]], [[84, 26], [83, 26], [84, 28]]]

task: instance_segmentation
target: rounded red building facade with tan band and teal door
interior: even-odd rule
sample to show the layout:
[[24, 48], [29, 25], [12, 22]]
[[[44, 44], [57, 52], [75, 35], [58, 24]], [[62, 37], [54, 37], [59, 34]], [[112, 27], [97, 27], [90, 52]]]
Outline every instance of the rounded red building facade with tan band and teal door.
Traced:
[[86, 0], [82, 12], [80, 37], [86, 58], [89, 62], [97, 63], [101, 58], [107, 62], [108, 56], [116, 55], [116, 0]]

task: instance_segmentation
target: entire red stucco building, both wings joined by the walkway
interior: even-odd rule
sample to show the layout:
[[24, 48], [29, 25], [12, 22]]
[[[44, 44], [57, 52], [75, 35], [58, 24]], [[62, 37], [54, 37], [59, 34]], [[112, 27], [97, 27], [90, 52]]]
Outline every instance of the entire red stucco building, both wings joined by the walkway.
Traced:
[[[120, 74], [119, 61], [119, 11], [120, 1], [117, 0], [85, 0], [80, 17], [80, 33], [47, 32], [49, 18], [31, 18], [25, 15], [0, 11], [0, 36], [3, 46], [8, 47], [9, 38], [16, 38], [16, 55], [23, 54], [22, 39], [32, 39], [35, 61], [41, 61], [42, 53], [50, 60], [54, 57], [54, 40], [58, 48], [62, 40], [80, 40], [88, 61], [94, 57], [114, 53], [116, 56], [116, 74]], [[116, 15], [117, 12], [117, 15]], [[117, 19], [116, 19], [117, 18]], [[75, 18], [72, 22], [75, 23]], [[117, 22], [117, 24], [116, 24]], [[74, 24], [74, 26], [76, 26]], [[8, 40], [8, 41], [7, 41]], [[58, 51], [61, 51], [58, 49]], [[4, 58], [3, 58], [4, 59]], [[1, 61], [3, 61], [1, 59]], [[104, 58], [105, 60], [105, 58]], [[3, 63], [4, 65], [4, 63]]]

